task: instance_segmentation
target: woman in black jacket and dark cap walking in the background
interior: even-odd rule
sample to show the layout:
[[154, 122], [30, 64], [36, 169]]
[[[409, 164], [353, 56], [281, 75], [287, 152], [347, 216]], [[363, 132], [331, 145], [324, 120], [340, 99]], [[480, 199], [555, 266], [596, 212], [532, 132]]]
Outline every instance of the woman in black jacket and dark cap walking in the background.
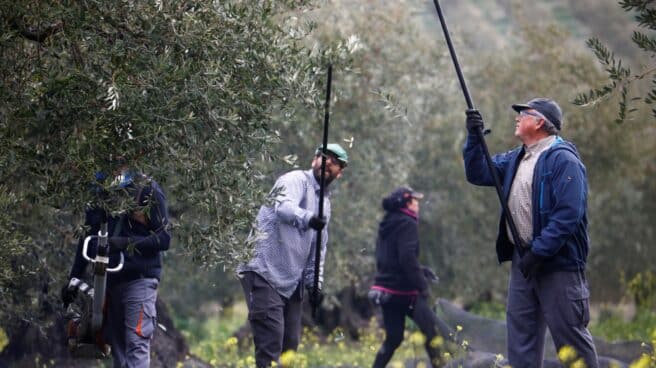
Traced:
[[385, 367], [401, 345], [406, 315], [426, 337], [425, 347], [431, 363], [434, 366], [442, 363], [439, 348], [440, 342], [449, 337], [448, 327], [440, 324], [429, 306], [428, 281], [436, 277], [418, 260], [417, 218], [421, 198], [423, 194], [400, 187], [383, 199], [385, 216], [378, 228], [377, 273], [370, 297], [382, 307], [386, 335], [376, 354], [374, 368]]

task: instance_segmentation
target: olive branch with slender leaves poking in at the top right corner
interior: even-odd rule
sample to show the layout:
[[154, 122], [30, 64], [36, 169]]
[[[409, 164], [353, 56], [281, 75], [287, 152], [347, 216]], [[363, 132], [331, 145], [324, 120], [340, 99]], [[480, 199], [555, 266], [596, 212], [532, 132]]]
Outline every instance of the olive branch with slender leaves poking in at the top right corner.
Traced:
[[[625, 0], [620, 1], [620, 6], [626, 12], [636, 11], [635, 16], [638, 25], [650, 30], [653, 33], [656, 30], [656, 10], [653, 8], [652, 1], [649, 0]], [[650, 59], [656, 55], [656, 38], [653, 34], [634, 31], [631, 37], [633, 43], [642, 51], [648, 54]], [[646, 65], [641, 68], [637, 74], [633, 74], [631, 69], [622, 65], [622, 60], [617, 59], [597, 38], [590, 38], [586, 45], [590, 48], [597, 60], [608, 75], [608, 82], [598, 88], [590, 89], [586, 93], [581, 93], [573, 100], [573, 103], [580, 106], [595, 105], [612, 97], [619, 92], [619, 110], [616, 123], [624, 122], [631, 113], [638, 108], [633, 107], [636, 101], [642, 101], [645, 105], [651, 106], [656, 101], [656, 65]], [[630, 88], [635, 82], [648, 79], [651, 81], [651, 87], [640, 96], [639, 92], [631, 93]], [[638, 94], [635, 97], [634, 95]], [[652, 117], [656, 118], [656, 109], [652, 109]]]

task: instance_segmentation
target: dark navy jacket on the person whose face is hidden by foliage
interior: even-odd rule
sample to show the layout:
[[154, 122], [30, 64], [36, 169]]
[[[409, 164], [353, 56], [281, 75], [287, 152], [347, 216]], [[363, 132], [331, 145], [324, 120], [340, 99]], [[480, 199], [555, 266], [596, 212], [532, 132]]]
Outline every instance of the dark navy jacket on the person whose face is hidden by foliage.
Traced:
[[[149, 206], [149, 211], [145, 216], [145, 224], [132, 213], [108, 217], [108, 236], [129, 237], [131, 243], [135, 244], [133, 252], [110, 247], [109, 267], [118, 264], [121, 252], [125, 263], [121, 271], [108, 273], [108, 287], [139, 278], [159, 280], [162, 273], [161, 252], [168, 250], [171, 243], [166, 197], [159, 184], [149, 180], [149, 184], [145, 185], [141, 191], [134, 186], [127, 189], [132, 190], [135, 197], [138, 195], [139, 206]], [[85, 225], [90, 227], [87, 235], [98, 235], [101, 219], [101, 210], [92, 208], [86, 211]], [[120, 227], [117, 228], [119, 223]], [[84, 239], [80, 239], [78, 243], [70, 277], [83, 278], [84, 276], [88, 262], [82, 257], [83, 242]], [[89, 256], [91, 258], [96, 254], [96, 245], [95, 240], [90, 242]]]

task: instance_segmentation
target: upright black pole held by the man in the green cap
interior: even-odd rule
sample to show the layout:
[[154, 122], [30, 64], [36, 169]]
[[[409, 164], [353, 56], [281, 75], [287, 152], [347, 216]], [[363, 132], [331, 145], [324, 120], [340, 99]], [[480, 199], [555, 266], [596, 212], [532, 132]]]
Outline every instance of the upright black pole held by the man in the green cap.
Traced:
[[[326, 83], [326, 103], [324, 105], [323, 118], [323, 143], [321, 146], [321, 180], [319, 182], [319, 218], [323, 218], [323, 197], [326, 188], [326, 154], [328, 148], [328, 122], [330, 120], [330, 84], [333, 79], [333, 66], [328, 64], [328, 81]], [[316, 320], [319, 309], [319, 273], [321, 267], [321, 233], [323, 229], [317, 231], [317, 243], [314, 253], [314, 285], [312, 288], [312, 318]]]

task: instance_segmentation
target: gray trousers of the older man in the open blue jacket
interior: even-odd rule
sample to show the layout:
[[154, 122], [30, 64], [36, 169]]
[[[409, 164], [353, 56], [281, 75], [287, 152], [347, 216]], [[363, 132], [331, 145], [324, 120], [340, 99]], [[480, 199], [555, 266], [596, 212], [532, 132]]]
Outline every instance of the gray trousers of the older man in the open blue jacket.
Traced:
[[590, 321], [588, 283], [581, 272], [552, 272], [524, 279], [515, 251], [508, 286], [508, 362], [513, 368], [542, 367], [546, 328], [556, 351], [576, 350], [587, 368], [599, 367]]

